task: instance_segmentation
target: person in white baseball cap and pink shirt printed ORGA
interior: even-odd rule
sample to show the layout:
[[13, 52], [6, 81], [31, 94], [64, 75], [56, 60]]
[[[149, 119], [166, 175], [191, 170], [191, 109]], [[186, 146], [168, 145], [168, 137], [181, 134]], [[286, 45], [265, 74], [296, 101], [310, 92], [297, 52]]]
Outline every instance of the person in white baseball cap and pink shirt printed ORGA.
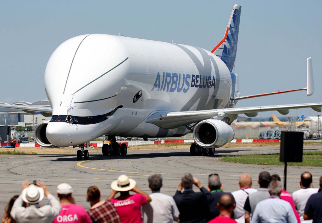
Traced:
[[68, 183], [61, 183], [57, 186], [57, 197], [60, 200], [62, 210], [52, 221], [53, 223], [91, 223], [92, 220], [87, 211], [81, 205], [71, 203], [73, 188]]

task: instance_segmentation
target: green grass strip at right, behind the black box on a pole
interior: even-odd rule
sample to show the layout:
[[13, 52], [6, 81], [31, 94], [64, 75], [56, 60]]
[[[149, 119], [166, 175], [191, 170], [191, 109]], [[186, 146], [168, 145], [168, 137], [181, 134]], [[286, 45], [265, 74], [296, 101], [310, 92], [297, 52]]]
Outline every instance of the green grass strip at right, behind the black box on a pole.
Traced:
[[[279, 154], [227, 155], [221, 161], [258, 165], [284, 165], [279, 162]], [[322, 166], [322, 151], [304, 152], [302, 163], [288, 163], [289, 166]]]

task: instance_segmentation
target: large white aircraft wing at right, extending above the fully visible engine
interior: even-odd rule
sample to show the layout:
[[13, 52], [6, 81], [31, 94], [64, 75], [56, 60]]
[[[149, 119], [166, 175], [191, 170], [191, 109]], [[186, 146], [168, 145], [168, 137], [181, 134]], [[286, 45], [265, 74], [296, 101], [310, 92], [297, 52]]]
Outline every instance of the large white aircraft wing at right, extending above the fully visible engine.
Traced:
[[220, 108], [211, 110], [199, 111], [184, 111], [184, 112], [156, 112], [147, 118], [147, 123], [155, 124], [161, 128], [176, 128], [183, 125], [200, 122], [204, 119], [209, 119], [218, 115], [239, 115], [245, 114], [249, 117], [255, 117], [258, 112], [278, 111], [285, 115], [289, 113], [289, 109], [310, 107], [317, 112], [322, 111], [322, 103], [308, 104], [290, 104], [290, 105], [272, 105], [259, 107], [241, 107], [241, 108]]

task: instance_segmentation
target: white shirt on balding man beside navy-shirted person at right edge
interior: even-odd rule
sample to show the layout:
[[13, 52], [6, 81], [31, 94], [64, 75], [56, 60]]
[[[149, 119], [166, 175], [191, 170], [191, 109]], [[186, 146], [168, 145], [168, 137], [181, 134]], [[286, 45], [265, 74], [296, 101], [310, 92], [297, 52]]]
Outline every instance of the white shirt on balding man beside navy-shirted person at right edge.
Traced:
[[298, 214], [300, 215], [301, 222], [312, 222], [312, 220], [304, 221], [304, 209], [309, 197], [312, 194], [316, 194], [318, 190], [318, 188], [301, 188], [293, 192], [292, 197], [294, 200], [295, 207], [298, 209]]

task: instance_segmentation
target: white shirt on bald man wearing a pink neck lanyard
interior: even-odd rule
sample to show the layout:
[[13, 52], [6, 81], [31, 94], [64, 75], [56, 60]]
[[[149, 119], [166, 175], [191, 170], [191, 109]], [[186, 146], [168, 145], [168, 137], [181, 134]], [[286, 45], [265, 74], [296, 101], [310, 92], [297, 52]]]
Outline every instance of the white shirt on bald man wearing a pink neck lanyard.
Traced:
[[236, 208], [234, 209], [234, 218], [238, 223], [245, 222], [245, 210], [244, 210], [245, 201], [248, 197], [248, 194], [254, 193], [256, 191], [257, 189], [247, 188], [244, 190], [236, 190], [232, 192], [232, 196], [234, 196], [234, 199], [236, 201]]

